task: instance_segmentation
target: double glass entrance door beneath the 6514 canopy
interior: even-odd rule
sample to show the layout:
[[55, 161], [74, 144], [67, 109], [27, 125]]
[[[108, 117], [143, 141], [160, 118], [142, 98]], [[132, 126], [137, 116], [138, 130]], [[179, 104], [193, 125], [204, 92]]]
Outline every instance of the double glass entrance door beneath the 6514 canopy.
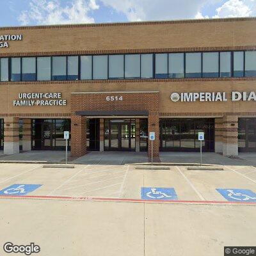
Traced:
[[105, 120], [105, 150], [135, 150], [135, 120]]

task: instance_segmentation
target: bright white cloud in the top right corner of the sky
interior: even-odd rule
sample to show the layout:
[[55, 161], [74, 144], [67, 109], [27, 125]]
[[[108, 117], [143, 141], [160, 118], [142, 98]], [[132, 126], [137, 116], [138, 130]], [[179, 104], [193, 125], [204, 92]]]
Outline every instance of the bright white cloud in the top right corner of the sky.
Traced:
[[217, 14], [214, 15], [214, 18], [248, 17], [252, 15], [254, 8], [255, 0], [228, 0], [222, 6], [216, 9]]

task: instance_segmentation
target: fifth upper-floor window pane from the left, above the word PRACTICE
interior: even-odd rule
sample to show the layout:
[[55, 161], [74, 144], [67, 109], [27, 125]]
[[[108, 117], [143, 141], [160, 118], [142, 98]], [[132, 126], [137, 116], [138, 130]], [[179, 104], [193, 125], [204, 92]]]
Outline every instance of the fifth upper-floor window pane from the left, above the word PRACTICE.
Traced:
[[67, 80], [67, 57], [52, 57], [52, 80]]

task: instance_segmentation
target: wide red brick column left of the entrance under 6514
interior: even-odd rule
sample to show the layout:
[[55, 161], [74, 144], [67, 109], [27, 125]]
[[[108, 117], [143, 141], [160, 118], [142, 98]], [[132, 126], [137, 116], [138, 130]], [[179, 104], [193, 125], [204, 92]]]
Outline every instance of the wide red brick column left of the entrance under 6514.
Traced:
[[86, 117], [71, 116], [71, 156], [86, 154]]

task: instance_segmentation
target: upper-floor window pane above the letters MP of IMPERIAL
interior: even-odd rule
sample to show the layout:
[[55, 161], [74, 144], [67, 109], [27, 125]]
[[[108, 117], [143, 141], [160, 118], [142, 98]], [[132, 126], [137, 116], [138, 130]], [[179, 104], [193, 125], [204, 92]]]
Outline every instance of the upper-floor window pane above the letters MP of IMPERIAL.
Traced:
[[202, 77], [202, 52], [186, 53], [186, 77]]

